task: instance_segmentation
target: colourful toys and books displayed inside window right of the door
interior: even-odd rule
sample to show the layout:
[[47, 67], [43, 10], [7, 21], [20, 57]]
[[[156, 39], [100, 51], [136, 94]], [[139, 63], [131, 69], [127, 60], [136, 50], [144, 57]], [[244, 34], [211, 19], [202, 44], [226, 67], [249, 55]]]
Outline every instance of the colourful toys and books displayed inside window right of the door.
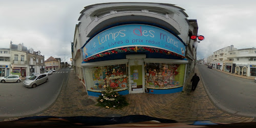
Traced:
[[175, 76], [179, 74], [178, 64], [147, 63], [146, 65], [146, 87], [172, 88], [179, 85]]

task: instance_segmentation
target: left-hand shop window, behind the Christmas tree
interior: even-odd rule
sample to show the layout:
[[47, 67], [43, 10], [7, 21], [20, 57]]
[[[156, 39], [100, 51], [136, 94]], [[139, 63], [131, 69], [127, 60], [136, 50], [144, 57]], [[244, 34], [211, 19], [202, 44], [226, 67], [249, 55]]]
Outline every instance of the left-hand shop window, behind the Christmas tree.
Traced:
[[103, 91], [110, 86], [115, 91], [127, 89], [126, 64], [84, 68], [89, 91]]

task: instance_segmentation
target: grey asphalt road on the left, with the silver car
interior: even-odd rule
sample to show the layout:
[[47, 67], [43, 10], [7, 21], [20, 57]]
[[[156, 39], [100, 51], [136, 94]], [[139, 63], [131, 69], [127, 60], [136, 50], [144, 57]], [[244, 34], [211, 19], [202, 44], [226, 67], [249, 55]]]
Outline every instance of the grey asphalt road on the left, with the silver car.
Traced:
[[57, 98], [62, 84], [67, 83], [70, 69], [49, 75], [49, 81], [36, 88], [22, 82], [0, 83], [0, 117], [26, 116], [47, 109]]

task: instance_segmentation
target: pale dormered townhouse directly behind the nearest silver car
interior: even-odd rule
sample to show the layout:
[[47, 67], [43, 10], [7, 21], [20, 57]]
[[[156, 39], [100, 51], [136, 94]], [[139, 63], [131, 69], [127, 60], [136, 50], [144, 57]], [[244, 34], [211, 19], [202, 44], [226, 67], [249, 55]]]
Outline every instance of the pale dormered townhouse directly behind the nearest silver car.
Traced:
[[40, 51], [35, 52], [32, 48], [27, 51], [29, 74], [45, 72], [45, 56]]

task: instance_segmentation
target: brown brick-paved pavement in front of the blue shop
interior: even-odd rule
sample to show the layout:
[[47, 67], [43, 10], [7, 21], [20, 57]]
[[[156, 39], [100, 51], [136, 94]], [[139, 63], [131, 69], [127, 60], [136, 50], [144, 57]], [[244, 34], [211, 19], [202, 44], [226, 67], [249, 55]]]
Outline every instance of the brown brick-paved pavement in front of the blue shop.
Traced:
[[[195, 72], [199, 74], [197, 67]], [[192, 76], [190, 75], [189, 80]], [[121, 116], [138, 114], [185, 123], [196, 120], [226, 123], [255, 121], [254, 118], [230, 115], [216, 108], [208, 98], [201, 80], [196, 91], [190, 90], [191, 86], [186, 86], [184, 92], [174, 94], [129, 94], [125, 97], [130, 104], [122, 110], [105, 109], [95, 105], [97, 97], [88, 96], [78, 77], [71, 71], [68, 84], [62, 87], [57, 101], [50, 109], [35, 116], [106, 117], [113, 114]], [[92, 104], [88, 105], [90, 103]], [[5, 119], [5, 121], [8, 120], [14, 120], [14, 118]]]

